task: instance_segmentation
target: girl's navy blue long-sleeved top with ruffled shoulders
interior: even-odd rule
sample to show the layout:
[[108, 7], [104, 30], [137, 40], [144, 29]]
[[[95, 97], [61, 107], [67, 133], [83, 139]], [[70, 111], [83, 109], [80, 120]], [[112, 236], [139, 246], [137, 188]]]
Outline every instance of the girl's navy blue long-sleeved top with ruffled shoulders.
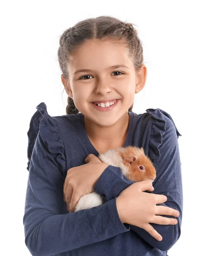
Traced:
[[[163, 256], [181, 235], [183, 191], [178, 132], [172, 117], [157, 108], [147, 113], [129, 114], [129, 130], [124, 147], [144, 148], [156, 169], [150, 193], [166, 195], [164, 205], [180, 212], [176, 225], [153, 224], [162, 236], [154, 239], [140, 227], [122, 223], [118, 195], [129, 181], [119, 167], [109, 165], [99, 177], [94, 191], [105, 204], [69, 213], [63, 201], [67, 170], [85, 164], [89, 154], [98, 157], [87, 136], [82, 113], [49, 116], [41, 102], [28, 131], [28, 184], [23, 224], [25, 243], [34, 256]], [[167, 218], [173, 216], [162, 215]]]

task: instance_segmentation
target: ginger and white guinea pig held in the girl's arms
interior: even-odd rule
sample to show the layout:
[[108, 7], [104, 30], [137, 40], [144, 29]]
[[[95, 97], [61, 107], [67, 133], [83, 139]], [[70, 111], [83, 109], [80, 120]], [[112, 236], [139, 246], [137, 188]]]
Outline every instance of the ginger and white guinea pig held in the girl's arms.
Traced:
[[[143, 148], [128, 146], [110, 149], [99, 154], [98, 158], [103, 163], [120, 167], [121, 172], [128, 180], [135, 182], [142, 180], [151, 180], [153, 182], [155, 180], [156, 170], [150, 158], [144, 154]], [[75, 212], [99, 206], [103, 204], [102, 199], [103, 196], [96, 192], [83, 195], [75, 207]]]

